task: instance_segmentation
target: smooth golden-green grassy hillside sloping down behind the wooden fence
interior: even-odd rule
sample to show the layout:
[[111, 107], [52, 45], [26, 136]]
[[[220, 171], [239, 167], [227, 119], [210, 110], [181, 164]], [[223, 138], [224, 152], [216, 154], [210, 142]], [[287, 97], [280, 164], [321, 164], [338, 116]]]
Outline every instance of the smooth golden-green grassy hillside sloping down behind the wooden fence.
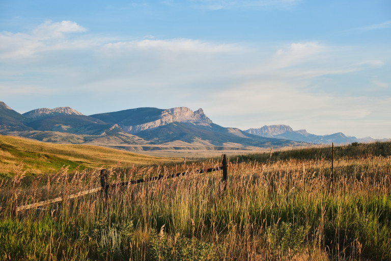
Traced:
[[0, 175], [58, 172], [61, 167], [101, 168], [179, 162], [178, 158], [157, 158], [117, 149], [91, 145], [51, 144], [39, 141], [0, 136]]

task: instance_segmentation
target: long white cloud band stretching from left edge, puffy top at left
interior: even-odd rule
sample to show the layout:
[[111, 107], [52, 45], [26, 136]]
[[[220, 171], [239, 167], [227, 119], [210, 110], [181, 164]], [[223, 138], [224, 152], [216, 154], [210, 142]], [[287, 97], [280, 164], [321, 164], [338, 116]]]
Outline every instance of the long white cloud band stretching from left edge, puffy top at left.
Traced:
[[[110, 56], [126, 56], [137, 51], [164, 56], [170, 54], [218, 54], [242, 50], [238, 44], [213, 43], [195, 39], [154, 39], [153, 36], [141, 40], [120, 41], [101, 37], [74, 37], [71, 33], [84, 33], [87, 29], [73, 21], [40, 24], [30, 33], [0, 33], [0, 59], [15, 60], [34, 57], [47, 51], [85, 50], [98, 51]], [[26, 61], [25, 61], [26, 62]]]

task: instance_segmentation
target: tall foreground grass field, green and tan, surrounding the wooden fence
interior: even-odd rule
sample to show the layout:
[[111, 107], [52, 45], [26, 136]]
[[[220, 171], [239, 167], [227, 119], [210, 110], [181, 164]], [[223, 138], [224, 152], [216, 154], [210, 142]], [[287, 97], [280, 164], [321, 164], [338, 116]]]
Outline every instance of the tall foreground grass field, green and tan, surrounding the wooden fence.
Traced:
[[[0, 185], [0, 260], [391, 260], [391, 143], [230, 156], [221, 172], [99, 187], [97, 171]], [[109, 183], [214, 167], [113, 168]], [[225, 189], [226, 187], [226, 189]], [[13, 214], [16, 205], [62, 203]]]

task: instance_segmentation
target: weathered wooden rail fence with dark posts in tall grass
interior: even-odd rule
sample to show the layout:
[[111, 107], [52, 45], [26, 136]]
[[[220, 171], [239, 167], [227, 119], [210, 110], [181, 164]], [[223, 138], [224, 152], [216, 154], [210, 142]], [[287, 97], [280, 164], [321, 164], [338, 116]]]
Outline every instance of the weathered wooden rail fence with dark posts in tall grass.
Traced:
[[[75, 194], [71, 194], [71, 195], [69, 195], [67, 197], [67, 199], [73, 199], [73, 198], [77, 198], [77, 197], [80, 197], [80, 196], [85, 196], [85, 195], [88, 195], [88, 194], [91, 194], [91, 193], [95, 193], [95, 192], [98, 192], [98, 191], [102, 191], [102, 190], [104, 191], [104, 198], [107, 199], [107, 192], [108, 192], [109, 188], [128, 186], [128, 185], [138, 184], [138, 183], [142, 183], [142, 182], [159, 180], [159, 179], [162, 179], [162, 178], [174, 178], [174, 177], [188, 175], [190, 173], [201, 174], [201, 173], [208, 173], [208, 172], [217, 171], [217, 170], [222, 170], [222, 180], [226, 181], [225, 182], [225, 189], [226, 189], [227, 188], [227, 178], [228, 178], [228, 163], [227, 163], [227, 156], [226, 156], [226, 154], [222, 154], [222, 164], [221, 164], [221, 166], [216, 167], [216, 168], [199, 169], [199, 170], [190, 171], [190, 172], [185, 171], [185, 172], [176, 173], [176, 174], [170, 174], [170, 175], [159, 175], [159, 176], [155, 176], [155, 177], [141, 178], [141, 179], [136, 179], [136, 180], [120, 182], [120, 183], [116, 183], [116, 184], [107, 184], [107, 180], [108, 180], [107, 179], [107, 170], [106, 169], [102, 169], [100, 171], [100, 184], [101, 184], [101, 187], [95, 188], [95, 189], [91, 189], [91, 190], [80, 191], [80, 192], [75, 193]], [[50, 204], [50, 203], [57, 203], [57, 202], [60, 202], [60, 201], [63, 201], [63, 200], [64, 200], [63, 197], [58, 197], [58, 198], [53, 198], [53, 199], [49, 199], [49, 200], [45, 200], [45, 201], [41, 201], [41, 202], [29, 204], [29, 205], [22, 205], [22, 206], [17, 206], [17, 202], [16, 202], [16, 200], [14, 200], [14, 206], [15, 207], [14, 207], [13, 211], [14, 211], [15, 214], [17, 214], [19, 211], [22, 211], [22, 210], [29, 210], [30, 208], [37, 208], [39, 206], [47, 205], [47, 204]]]

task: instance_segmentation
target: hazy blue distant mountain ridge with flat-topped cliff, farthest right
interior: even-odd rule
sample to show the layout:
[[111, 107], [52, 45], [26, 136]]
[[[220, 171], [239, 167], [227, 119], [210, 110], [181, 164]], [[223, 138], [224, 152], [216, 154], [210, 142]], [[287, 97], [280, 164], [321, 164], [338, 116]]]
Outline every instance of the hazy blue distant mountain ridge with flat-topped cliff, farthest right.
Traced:
[[[288, 125], [265, 125], [261, 128], [249, 128], [245, 131], [246, 133], [258, 135], [261, 137], [287, 139], [297, 142], [307, 142], [316, 144], [348, 144], [352, 142], [371, 142], [377, 141], [371, 137], [365, 137], [357, 139], [356, 137], [346, 136], [343, 133], [334, 133], [331, 135], [315, 135], [308, 133], [305, 129], [299, 129], [293, 131]], [[381, 141], [385, 141], [383, 139]]]

